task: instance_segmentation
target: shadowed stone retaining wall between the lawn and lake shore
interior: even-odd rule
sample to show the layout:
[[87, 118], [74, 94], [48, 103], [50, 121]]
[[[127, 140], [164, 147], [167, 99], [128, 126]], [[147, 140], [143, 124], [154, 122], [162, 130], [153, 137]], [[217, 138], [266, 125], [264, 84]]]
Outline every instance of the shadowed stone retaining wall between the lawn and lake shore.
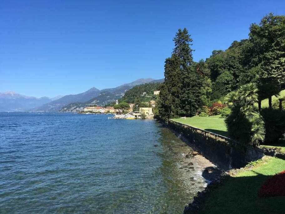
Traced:
[[230, 138], [169, 120], [166, 125], [194, 150], [223, 170], [244, 167], [262, 158], [262, 149], [238, 144]]

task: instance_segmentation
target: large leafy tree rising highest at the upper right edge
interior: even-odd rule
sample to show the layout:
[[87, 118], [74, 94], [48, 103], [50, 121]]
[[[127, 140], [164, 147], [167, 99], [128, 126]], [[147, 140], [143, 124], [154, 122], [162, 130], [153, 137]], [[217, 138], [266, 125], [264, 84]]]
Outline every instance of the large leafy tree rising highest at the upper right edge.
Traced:
[[262, 78], [275, 78], [279, 84], [285, 81], [285, 16], [272, 13], [264, 16], [259, 24], [250, 26], [252, 64], [260, 64]]

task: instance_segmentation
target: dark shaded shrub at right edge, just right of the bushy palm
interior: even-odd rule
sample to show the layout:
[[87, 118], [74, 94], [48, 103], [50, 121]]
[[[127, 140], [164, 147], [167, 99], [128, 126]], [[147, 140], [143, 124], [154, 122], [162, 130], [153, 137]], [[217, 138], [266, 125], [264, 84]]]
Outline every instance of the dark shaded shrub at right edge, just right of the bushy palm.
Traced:
[[265, 123], [265, 143], [274, 144], [285, 133], [285, 111], [262, 108], [261, 115]]

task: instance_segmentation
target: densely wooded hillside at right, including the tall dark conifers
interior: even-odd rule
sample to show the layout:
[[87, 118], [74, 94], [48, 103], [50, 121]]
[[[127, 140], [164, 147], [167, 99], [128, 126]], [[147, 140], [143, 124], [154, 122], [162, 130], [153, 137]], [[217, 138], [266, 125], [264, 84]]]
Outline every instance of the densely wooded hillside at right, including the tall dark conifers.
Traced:
[[249, 23], [249, 30], [248, 38], [194, 62], [195, 39], [187, 29], [178, 29], [173, 52], [165, 60], [159, 117], [167, 121], [196, 115], [203, 106], [223, 102], [222, 97], [247, 83], [257, 87], [259, 108], [265, 98], [271, 107], [271, 97], [285, 86], [285, 16], [269, 13], [260, 23]]

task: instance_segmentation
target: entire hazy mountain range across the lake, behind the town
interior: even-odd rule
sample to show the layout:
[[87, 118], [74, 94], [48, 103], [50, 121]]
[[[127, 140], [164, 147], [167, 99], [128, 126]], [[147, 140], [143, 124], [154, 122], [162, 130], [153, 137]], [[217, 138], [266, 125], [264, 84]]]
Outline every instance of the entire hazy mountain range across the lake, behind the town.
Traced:
[[28, 97], [15, 92], [0, 93], [0, 112], [76, 112], [79, 108], [91, 103], [104, 105], [124, 96], [125, 91], [130, 88], [148, 82], [163, 82], [164, 79], [155, 80], [152, 78], [141, 78], [130, 83], [123, 84], [115, 88], [99, 90], [90, 88], [80, 94], [66, 96], [48, 97]]

